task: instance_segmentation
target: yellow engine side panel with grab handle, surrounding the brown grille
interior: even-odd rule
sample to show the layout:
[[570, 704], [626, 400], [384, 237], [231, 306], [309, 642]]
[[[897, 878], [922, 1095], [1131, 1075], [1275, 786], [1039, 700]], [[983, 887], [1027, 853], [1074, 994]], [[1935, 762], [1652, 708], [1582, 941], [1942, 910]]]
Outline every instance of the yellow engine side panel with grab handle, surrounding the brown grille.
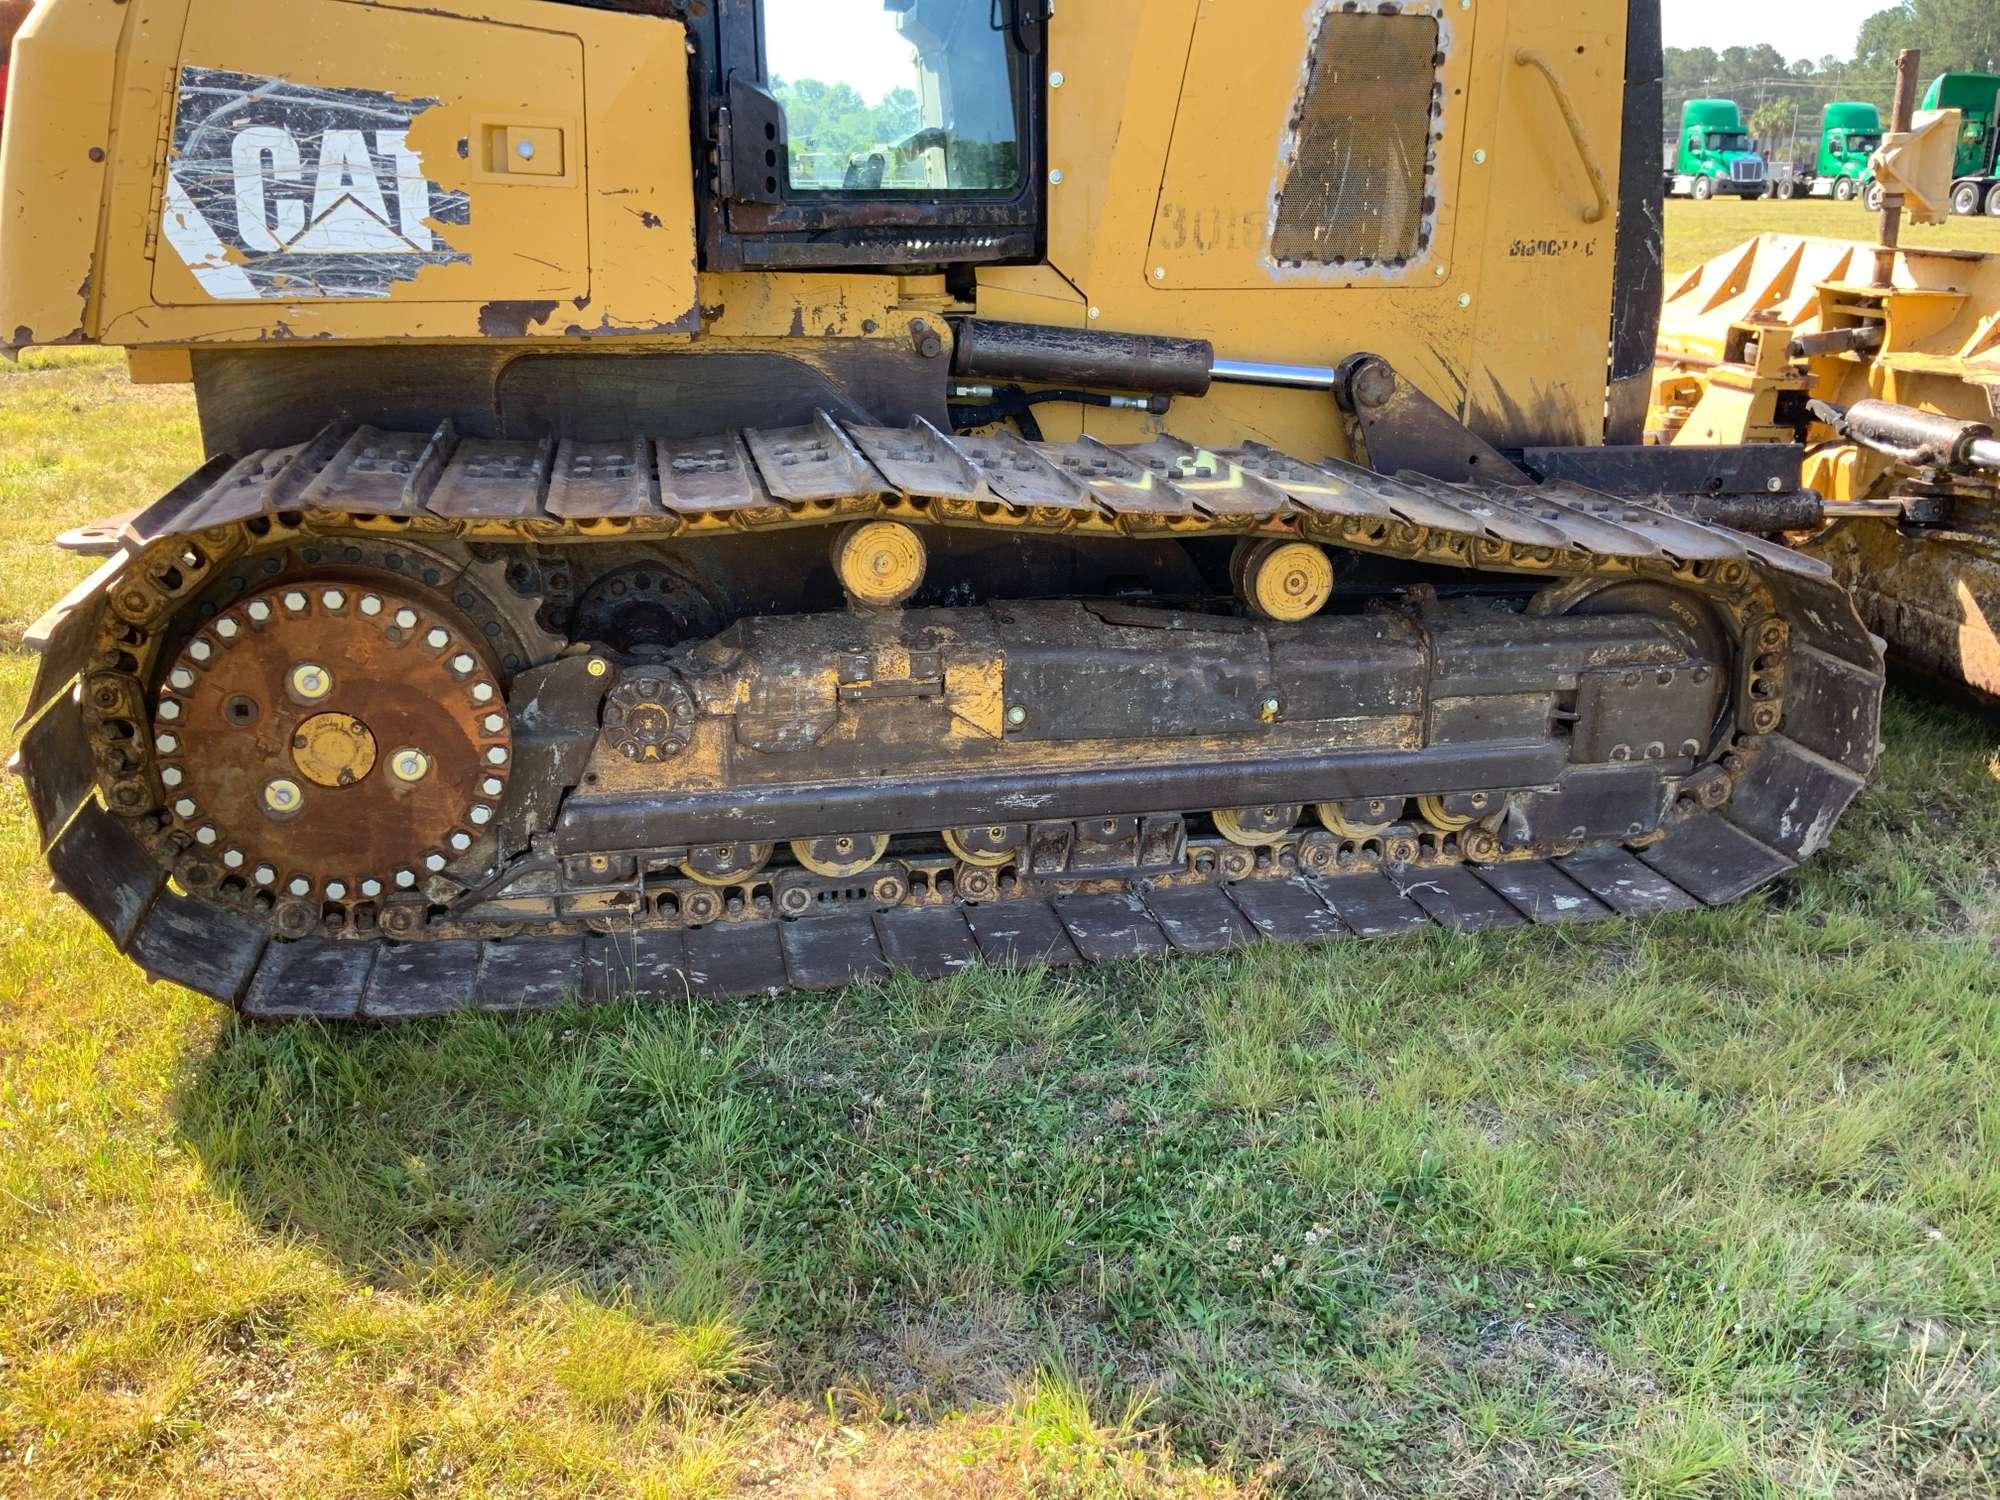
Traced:
[[[1060, 6], [1048, 32], [1062, 74], [1050, 266], [1082, 294], [1090, 328], [1208, 338], [1222, 358], [1280, 364], [1368, 350], [1494, 442], [1596, 442], [1616, 212], [1586, 222], [1596, 192], [1582, 152], [1548, 80], [1516, 52], [1552, 60], [1616, 202], [1626, 0], [1398, 10], [1440, 16], [1446, 38], [1438, 234], [1422, 254], [1358, 274], [1292, 270], [1268, 250], [1312, 44], [1346, 0], [1092, 0]], [[1056, 432], [1070, 418], [1050, 420]], [[1146, 428], [1124, 412], [1082, 422], [1112, 440]], [[1318, 392], [1216, 386], [1164, 426], [1192, 442], [1348, 450]]]

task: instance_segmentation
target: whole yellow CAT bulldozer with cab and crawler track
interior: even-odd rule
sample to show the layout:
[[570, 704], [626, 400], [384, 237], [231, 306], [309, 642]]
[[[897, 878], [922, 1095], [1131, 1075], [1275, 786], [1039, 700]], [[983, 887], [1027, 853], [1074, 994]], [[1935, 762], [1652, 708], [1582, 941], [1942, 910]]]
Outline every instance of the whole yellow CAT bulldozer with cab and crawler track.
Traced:
[[1650, 0], [44, 0], [0, 338], [208, 450], [34, 628], [56, 882], [328, 1018], [1744, 896], [1884, 664], [1794, 450], [1642, 442], [1660, 74]]

